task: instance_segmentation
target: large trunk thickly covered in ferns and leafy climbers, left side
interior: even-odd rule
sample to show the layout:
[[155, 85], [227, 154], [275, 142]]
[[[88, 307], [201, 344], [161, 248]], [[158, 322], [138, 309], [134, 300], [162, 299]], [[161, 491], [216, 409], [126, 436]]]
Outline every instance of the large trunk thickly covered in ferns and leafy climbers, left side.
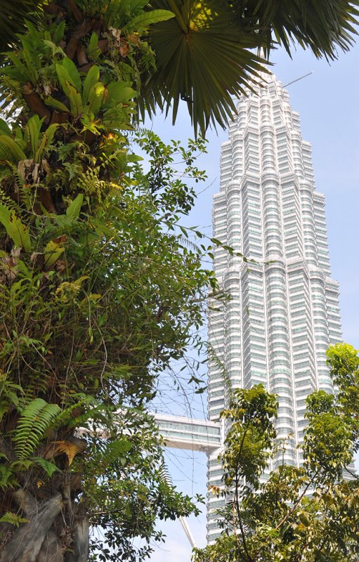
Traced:
[[138, 131], [145, 173], [131, 124], [153, 60], [140, 32], [172, 14], [69, 6], [27, 23], [1, 75], [1, 562], [143, 558], [156, 518], [197, 512], [147, 410], [216, 288], [176, 226], [204, 147]]

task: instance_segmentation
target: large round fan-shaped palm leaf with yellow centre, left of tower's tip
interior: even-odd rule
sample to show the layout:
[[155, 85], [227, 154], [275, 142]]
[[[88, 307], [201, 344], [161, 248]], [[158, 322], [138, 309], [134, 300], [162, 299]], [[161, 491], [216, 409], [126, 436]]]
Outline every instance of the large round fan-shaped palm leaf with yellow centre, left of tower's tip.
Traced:
[[168, 113], [172, 107], [175, 121], [182, 99], [195, 132], [204, 133], [210, 123], [226, 126], [235, 112], [232, 96], [261, 81], [260, 71], [268, 72], [249, 51], [259, 42], [253, 29], [233, 22], [233, 11], [221, 0], [157, 0], [152, 6], [171, 9], [176, 17], [150, 31], [157, 72], [143, 87], [147, 109], [159, 105]]

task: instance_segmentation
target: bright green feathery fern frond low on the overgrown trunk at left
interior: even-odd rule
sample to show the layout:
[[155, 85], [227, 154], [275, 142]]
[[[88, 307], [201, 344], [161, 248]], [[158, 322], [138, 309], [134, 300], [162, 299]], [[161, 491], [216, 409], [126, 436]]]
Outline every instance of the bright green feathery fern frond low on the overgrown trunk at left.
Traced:
[[13, 436], [19, 460], [25, 460], [32, 454], [60, 412], [57, 404], [48, 404], [42, 398], [35, 398], [25, 406]]

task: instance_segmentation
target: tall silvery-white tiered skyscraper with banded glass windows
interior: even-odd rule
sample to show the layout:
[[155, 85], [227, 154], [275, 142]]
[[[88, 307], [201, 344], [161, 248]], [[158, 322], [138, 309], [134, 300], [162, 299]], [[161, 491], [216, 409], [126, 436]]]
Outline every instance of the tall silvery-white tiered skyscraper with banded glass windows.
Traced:
[[[278, 395], [278, 437], [287, 438], [285, 462], [297, 465], [306, 396], [316, 388], [333, 392], [325, 351], [341, 341], [339, 285], [330, 277], [325, 197], [315, 191], [311, 145], [287, 91], [274, 76], [267, 81], [240, 98], [222, 145], [214, 237], [255, 261], [214, 251], [230, 300], [209, 311], [208, 415], [218, 420], [230, 386], [262, 383]], [[211, 485], [221, 485], [216, 457], [209, 455]], [[270, 468], [281, 463], [282, 454]], [[220, 533], [214, 510], [224, 501], [209, 497], [209, 541]]]

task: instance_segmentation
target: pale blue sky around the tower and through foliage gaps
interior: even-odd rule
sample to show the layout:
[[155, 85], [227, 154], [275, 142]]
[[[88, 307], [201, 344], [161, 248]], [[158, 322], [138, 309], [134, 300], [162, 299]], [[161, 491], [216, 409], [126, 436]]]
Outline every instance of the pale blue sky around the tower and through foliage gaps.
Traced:
[[[271, 56], [272, 71], [282, 84], [313, 71], [287, 87], [291, 105], [301, 116], [304, 140], [311, 142], [316, 190], [326, 197], [327, 234], [332, 277], [339, 281], [343, 339], [359, 348], [359, 44], [349, 53], [339, 53], [330, 63], [316, 60], [309, 51], [298, 48], [292, 60], [283, 50]], [[192, 138], [190, 120], [181, 111], [175, 126], [171, 119], [157, 116], [152, 127], [164, 141], [171, 138], [185, 142]], [[220, 146], [227, 133], [221, 129], [208, 133], [208, 154], [198, 162], [207, 172], [207, 182], [200, 185], [195, 209], [189, 218], [191, 226], [211, 233], [212, 196], [219, 189]], [[170, 395], [167, 396], [169, 403]], [[174, 400], [176, 397], [174, 396]], [[178, 408], [178, 404], [176, 406]], [[205, 403], [197, 405], [197, 417], [204, 417]], [[177, 410], [178, 411], [178, 410]], [[185, 415], [187, 412], [183, 411]], [[201, 453], [168, 450], [167, 465], [178, 490], [189, 495], [206, 494], [206, 456]], [[190, 518], [190, 529], [198, 546], [205, 544], [205, 508], [202, 515]], [[156, 547], [151, 562], [190, 561], [190, 545], [176, 522], [159, 527], [167, 541]]]

